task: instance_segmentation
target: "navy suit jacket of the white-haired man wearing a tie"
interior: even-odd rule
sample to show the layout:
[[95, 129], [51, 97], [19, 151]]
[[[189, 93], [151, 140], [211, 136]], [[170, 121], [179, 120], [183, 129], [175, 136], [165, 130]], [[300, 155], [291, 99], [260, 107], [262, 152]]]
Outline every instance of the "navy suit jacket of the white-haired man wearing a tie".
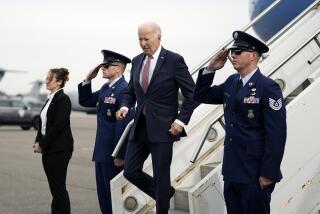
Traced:
[[[145, 57], [146, 55], [141, 53], [133, 58], [130, 82], [122, 102], [122, 106], [129, 108], [137, 102], [135, 123], [129, 139], [135, 138], [135, 128], [144, 109], [146, 131], [151, 142], [179, 140], [180, 136], [173, 136], [168, 130], [175, 119], [188, 124], [195, 108], [193, 102], [194, 81], [183, 57], [161, 47], [145, 94], [139, 81]], [[178, 112], [179, 89], [184, 97], [180, 112]], [[185, 135], [183, 130], [181, 136]]]

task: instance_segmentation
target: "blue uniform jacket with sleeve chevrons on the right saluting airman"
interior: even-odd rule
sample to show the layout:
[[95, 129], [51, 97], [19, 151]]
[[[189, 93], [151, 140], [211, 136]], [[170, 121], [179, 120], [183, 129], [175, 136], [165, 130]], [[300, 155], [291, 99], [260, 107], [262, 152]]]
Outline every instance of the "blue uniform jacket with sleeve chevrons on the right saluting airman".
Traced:
[[257, 70], [240, 89], [237, 88], [239, 74], [211, 87], [214, 73], [202, 75], [202, 71], [196, 83], [195, 100], [224, 105], [224, 179], [253, 183], [263, 176], [280, 181], [286, 109], [278, 84]]

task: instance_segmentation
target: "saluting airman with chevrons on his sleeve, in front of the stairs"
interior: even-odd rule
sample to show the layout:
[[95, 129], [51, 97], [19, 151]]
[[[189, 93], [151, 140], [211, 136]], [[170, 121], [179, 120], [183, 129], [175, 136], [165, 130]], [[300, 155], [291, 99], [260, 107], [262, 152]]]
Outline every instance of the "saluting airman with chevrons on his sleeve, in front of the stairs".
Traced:
[[225, 143], [222, 174], [228, 214], [270, 213], [271, 193], [282, 178], [286, 109], [278, 84], [257, 67], [268, 46], [253, 36], [233, 33], [232, 64], [238, 71], [211, 87], [215, 71], [229, 54], [223, 49], [199, 71], [194, 98], [223, 104]]

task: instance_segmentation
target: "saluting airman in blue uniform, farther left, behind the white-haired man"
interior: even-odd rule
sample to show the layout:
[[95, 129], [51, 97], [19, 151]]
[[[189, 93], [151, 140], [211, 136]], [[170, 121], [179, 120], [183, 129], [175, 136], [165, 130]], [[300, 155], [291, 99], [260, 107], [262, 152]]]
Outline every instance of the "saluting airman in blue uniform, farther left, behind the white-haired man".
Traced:
[[[122, 169], [126, 144], [118, 153], [116, 158], [111, 157], [118, 140], [120, 139], [126, 125], [133, 118], [133, 111], [124, 121], [117, 121], [116, 111], [119, 110], [122, 93], [128, 83], [123, 77], [126, 64], [131, 60], [109, 50], [102, 50], [103, 62], [92, 69], [84, 82], [78, 85], [79, 103], [85, 107], [97, 108], [97, 133], [92, 160], [95, 162], [96, 183], [99, 205], [103, 214], [111, 214], [111, 192], [110, 181]], [[91, 80], [102, 70], [103, 78], [109, 80], [100, 90], [92, 92]]]

